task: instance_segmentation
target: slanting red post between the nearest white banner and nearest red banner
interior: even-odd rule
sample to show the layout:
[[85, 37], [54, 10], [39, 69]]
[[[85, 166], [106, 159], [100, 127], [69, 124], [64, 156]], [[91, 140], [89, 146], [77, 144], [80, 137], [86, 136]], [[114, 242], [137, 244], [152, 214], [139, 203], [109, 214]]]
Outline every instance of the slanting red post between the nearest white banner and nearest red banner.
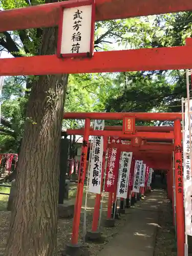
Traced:
[[[108, 145], [108, 137], [104, 137], [103, 138], [102, 172], [101, 172], [101, 193], [102, 193], [102, 187], [103, 187], [103, 177], [104, 177], [104, 167], [105, 167], [107, 145]], [[101, 203], [101, 194], [96, 194], [95, 207], [94, 207], [94, 213], [93, 213], [92, 231], [97, 231], [97, 226], [98, 226], [98, 222], [99, 222], [100, 203]]]

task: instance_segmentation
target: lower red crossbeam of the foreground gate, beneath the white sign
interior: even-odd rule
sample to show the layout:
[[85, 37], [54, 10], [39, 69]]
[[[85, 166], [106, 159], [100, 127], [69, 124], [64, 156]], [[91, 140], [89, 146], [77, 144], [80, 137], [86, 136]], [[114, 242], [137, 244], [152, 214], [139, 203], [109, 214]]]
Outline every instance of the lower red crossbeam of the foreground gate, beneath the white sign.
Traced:
[[60, 59], [57, 55], [0, 59], [1, 76], [172, 70], [190, 67], [192, 47], [186, 46], [97, 52], [93, 58], [80, 59]]

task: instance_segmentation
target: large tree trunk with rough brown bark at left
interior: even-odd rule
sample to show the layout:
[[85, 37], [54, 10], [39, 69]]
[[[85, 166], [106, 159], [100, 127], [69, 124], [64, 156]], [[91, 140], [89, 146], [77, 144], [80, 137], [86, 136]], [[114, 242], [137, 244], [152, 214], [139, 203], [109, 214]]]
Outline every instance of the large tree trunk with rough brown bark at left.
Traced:
[[[41, 55], [54, 54], [56, 28], [45, 28]], [[56, 250], [59, 147], [68, 75], [33, 83], [16, 177], [5, 256], [53, 256]]]

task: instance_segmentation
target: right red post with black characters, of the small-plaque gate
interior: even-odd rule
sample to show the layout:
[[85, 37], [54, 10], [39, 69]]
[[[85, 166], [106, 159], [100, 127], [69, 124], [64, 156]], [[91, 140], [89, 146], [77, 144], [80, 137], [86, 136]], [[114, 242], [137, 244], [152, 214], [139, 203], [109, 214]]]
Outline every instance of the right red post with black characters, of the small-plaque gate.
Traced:
[[177, 255], [184, 256], [185, 230], [183, 209], [183, 175], [182, 175], [182, 145], [181, 121], [174, 121], [175, 146], [175, 186], [176, 186], [176, 225], [177, 225]]

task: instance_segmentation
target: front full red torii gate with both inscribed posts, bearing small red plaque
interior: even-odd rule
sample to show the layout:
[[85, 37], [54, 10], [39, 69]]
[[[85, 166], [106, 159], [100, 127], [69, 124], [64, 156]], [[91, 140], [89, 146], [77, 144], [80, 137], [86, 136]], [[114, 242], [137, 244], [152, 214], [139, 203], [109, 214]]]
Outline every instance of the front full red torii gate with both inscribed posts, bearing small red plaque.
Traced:
[[[136, 120], [161, 120], [161, 121], [174, 121], [174, 132], [172, 129], [167, 129], [166, 132], [136, 132], [135, 134], [124, 134], [123, 131], [93, 131], [90, 129], [91, 119], [104, 119], [104, 120], [122, 120], [125, 117], [134, 117]], [[181, 113], [65, 113], [63, 114], [63, 119], [85, 119], [84, 130], [83, 131], [83, 145], [82, 145], [82, 155], [84, 158], [81, 159], [82, 164], [82, 178], [78, 183], [76, 204], [75, 204], [75, 216], [73, 221], [73, 234], [72, 234], [72, 244], [77, 244], [78, 242], [78, 230], [80, 221], [80, 209], [82, 203], [82, 193], [84, 178], [86, 175], [86, 163], [84, 159], [87, 159], [88, 152], [88, 141], [90, 135], [96, 136], [118, 136], [121, 138], [135, 138], [141, 137], [145, 139], [174, 139], [174, 152], [175, 152], [175, 181], [176, 181], [176, 223], [177, 223], [177, 248], [178, 256], [184, 256], [184, 211], [183, 211], [183, 176], [182, 176], [182, 144], [181, 144]], [[138, 129], [139, 130], [139, 129]], [[154, 129], [155, 130], [155, 129]], [[74, 131], [73, 131], [74, 132]], [[144, 146], [144, 145], [143, 145]], [[150, 153], [151, 156], [152, 153]], [[172, 154], [171, 152], [168, 156], [167, 161], [169, 161], [166, 166], [169, 170], [171, 168]], [[152, 158], [152, 161], [156, 161], [156, 158]], [[150, 161], [151, 162], [151, 161]], [[173, 179], [168, 177], [168, 183], [173, 184]], [[170, 197], [170, 190], [168, 190]], [[173, 198], [173, 197], [172, 197]]]

